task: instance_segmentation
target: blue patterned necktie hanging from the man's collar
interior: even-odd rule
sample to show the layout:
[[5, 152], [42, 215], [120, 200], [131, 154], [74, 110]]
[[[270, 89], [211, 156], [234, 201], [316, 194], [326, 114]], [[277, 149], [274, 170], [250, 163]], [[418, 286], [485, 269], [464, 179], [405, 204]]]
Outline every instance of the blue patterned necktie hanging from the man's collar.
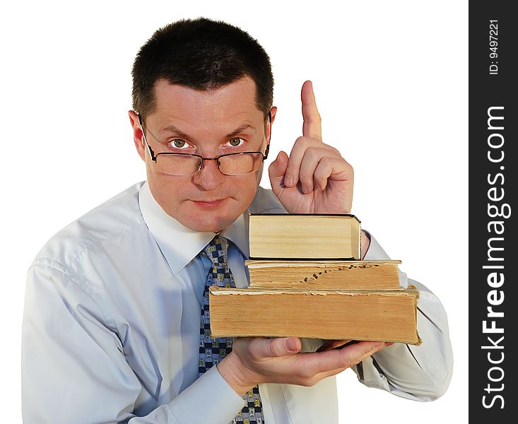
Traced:
[[[235, 287], [234, 278], [228, 268], [228, 240], [225, 237], [216, 235], [212, 241], [206, 245], [204, 252], [208, 259], [212, 261], [212, 269], [208, 272], [204, 288], [203, 305], [201, 307], [200, 322], [200, 349], [199, 349], [199, 375], [202, 375], [209, 368], [218, 365], [220, 360], [225, 358], [232, 351], [232, 338], [211, 337], [210, 314], [208, 312], [208, 288], [211, 285], [220, 287]], [[259, 387], [253, 387], [243, 399], [247, 401], [247, 406], [237, 414], [231, 424], [264, 424], [261, 399], [259, 397]]]

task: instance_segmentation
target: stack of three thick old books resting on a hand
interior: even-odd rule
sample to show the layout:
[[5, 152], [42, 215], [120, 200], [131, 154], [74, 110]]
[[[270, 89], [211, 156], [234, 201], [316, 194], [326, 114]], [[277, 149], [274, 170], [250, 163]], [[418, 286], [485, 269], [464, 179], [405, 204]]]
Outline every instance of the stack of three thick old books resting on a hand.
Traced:
[[354, 215], [250, 214], [249, 288], [211, 287], [212, 335], [420, 344], [418, 290], [360, 240]]

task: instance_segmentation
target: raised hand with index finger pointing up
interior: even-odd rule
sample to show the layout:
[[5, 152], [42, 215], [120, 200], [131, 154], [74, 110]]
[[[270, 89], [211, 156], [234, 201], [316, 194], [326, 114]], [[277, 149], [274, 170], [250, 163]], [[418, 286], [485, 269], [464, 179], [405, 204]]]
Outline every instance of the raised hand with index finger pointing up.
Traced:
[[269, 166], [273, 193], [289, 213], [351, 213], [353, 167], [322, 143], [322, 119], [311, 81], [302, 85], [302, 137], [290, 156], [281, 151]]

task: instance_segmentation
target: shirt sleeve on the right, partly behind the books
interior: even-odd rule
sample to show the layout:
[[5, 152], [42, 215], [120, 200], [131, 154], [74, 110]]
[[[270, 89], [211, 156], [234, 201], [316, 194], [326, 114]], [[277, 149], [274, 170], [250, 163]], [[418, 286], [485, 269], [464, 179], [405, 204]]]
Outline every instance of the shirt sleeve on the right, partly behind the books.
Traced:
[[[389, 259], [372, 235], [365, 259]], [[394, 343], [353, 367], [360, 382], [416, 401], [433, 401], [445, 393], [452, 379], [453, 353], [447, 314], [425, 285], [400, 271], [403, 287], [419, 290], [417, 307], [419, 346]]]

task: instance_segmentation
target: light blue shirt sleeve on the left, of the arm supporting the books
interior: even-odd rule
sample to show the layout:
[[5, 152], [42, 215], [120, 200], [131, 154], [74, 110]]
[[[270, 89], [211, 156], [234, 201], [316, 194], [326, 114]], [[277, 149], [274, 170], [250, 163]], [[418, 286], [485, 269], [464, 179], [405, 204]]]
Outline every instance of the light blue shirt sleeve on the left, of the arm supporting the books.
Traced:
[[245, 404], [216, 367], [145, 416], [135, 411], [142, 391], [88, 285], [54, 261], [33, 264], [23, 312], [23, 422], [228, 424]]

